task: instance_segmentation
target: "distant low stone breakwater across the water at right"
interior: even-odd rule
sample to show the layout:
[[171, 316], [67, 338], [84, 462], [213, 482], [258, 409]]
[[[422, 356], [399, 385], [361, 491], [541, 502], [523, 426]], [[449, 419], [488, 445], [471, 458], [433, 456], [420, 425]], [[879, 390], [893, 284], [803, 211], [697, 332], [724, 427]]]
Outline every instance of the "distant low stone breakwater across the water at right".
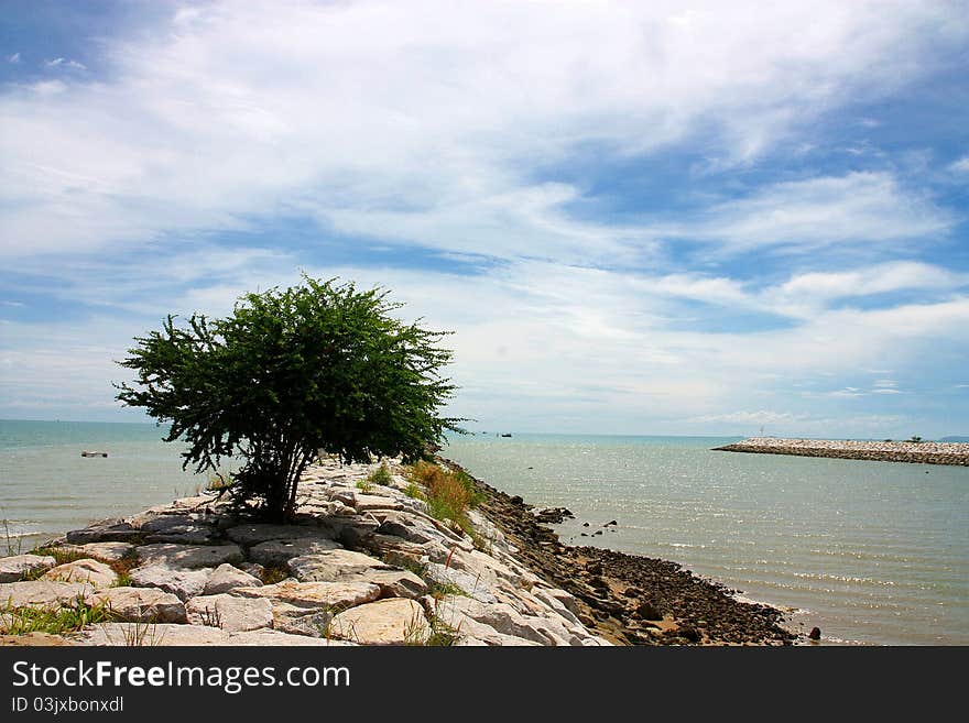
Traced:
[[853, 441], [842, 439], [775, 439], [751, 437], [715, 451], [753, 452], [759, 454], [795, 454], [798, 457], [834, 457], [878, 462], [914, 462], [918, 464], [957, 464], [969, 467], [969, 443], [934, 441]]

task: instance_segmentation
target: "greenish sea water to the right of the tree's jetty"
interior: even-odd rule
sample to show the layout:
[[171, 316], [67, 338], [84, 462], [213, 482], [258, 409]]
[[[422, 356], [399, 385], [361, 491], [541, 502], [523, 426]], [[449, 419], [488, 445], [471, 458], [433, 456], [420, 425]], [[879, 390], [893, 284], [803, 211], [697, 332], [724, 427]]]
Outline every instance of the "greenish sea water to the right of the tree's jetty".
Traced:
[[491, 434], [442, 453], [509, 494], [568, 507], [563, 541], [681, 562], [790, 611], [794, 629], [969, 644], [969, 468], [711, 449], [730, 441]]

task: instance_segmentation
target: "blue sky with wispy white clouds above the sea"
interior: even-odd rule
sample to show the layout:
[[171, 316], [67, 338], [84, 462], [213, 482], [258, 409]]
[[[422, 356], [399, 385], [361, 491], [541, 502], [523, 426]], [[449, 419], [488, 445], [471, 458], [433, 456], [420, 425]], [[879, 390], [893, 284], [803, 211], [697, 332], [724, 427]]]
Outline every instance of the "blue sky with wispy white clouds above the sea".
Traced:
[[0, 418], [301, 273], [491, 431], [969, 435], [969, 2], [0, 0]]

